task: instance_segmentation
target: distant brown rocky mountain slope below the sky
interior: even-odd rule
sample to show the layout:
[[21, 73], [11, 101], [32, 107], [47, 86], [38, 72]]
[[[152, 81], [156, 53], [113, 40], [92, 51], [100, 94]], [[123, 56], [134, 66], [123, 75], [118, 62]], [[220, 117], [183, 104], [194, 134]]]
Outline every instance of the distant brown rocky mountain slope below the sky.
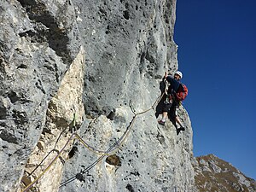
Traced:
[[213, 154], [197, 157], [195, 185], [199, 191], [256, 191], [256, 182]]

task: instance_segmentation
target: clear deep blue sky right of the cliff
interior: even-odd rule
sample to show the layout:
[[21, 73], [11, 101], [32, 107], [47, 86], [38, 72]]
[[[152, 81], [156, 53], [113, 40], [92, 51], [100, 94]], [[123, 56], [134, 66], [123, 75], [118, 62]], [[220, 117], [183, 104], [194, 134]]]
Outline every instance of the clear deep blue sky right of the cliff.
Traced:
[[256, 1], [177, 0], [174, 40], [195, 156], [256, 179]]

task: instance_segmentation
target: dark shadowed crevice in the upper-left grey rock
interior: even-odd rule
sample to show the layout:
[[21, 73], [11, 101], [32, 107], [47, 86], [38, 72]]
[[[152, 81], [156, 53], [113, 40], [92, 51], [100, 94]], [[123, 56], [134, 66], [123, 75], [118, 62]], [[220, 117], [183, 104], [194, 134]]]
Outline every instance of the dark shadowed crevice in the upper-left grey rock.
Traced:
[[61, 56], [65, 63], [71, 63], [73, 58], [69, 55], [67, 45], [70, 39], [67, 36], [67, 29], [59, 26], [55, 16], [49, 13], [44, 3], [36, 0], [19, 0], [30, 20], [35, 22], [35, 32], [32, 30], [20, 32], [20, 37], [28, 36], [32, 42], [47, 42], [56, 55]]

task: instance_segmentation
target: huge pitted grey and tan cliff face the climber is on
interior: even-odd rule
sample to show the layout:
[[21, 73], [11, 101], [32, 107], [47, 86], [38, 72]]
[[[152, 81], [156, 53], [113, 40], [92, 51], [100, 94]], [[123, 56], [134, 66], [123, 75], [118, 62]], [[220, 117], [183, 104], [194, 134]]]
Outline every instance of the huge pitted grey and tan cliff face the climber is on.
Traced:
[[157, 123], [175, 7], [1, 1], [0, 191], [195, 190], [188, 113]]

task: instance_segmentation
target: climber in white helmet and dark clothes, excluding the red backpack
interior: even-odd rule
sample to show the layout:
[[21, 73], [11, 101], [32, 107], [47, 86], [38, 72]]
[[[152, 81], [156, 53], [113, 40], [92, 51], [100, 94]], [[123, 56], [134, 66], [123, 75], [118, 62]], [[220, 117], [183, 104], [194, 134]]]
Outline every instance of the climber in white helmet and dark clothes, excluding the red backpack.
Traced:
[[178, 118], [176, 112], [177, 106], [179, 105], [179, 100], [177, 99], [177, 91], [180, 89], [180, 86], [182, 86], [182, 84], [179, 82], [179, 80], [182, 78], [183, 73], [181, 73], [180, 71], [177, 71], [174, 74], [173, 78], [172, 76], [167, 75], [167, 73], [165, 73], [164, 79], [170, 85], [166, 88], [166, 99], [164, 102], [164, 107], [162, 108], [162, 119], [158, 121], [160, 125], [165, 125], [169, 113], [171, 117], [175, 119], [178, 125], [180, 125], [178, 131], [185, 131], [185, 128], [182, 125], [181, 120]]

